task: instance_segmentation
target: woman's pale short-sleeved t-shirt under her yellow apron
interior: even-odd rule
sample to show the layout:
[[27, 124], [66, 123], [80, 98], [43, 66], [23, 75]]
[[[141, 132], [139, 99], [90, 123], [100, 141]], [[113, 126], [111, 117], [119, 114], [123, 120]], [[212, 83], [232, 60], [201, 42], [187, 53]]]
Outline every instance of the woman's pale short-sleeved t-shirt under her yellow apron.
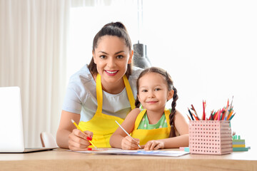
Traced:
[[[129, 84], [136, 99], [136, 80], [142, 69], [133, 67]], [[64, 98], [62, 110], [81, 115], [81, 121], [89, 121], [94, 117], [97, 109], [96, 81], [89, 68], [85, 65], [80, 71], [71, 76]], [[106, 115], [126, 118], [131, 111], [131, 105], [126, 88], [119, 94], [110, 94], [103, 90], [103, 110]]]

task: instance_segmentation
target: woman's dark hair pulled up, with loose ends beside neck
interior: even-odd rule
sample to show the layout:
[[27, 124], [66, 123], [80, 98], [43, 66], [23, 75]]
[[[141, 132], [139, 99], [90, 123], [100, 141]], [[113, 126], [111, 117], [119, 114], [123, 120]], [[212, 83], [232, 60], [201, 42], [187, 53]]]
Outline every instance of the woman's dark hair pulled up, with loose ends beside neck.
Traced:
[[[126, 27], [121, 22], [111, 22], [109, 24], [106, 24], [103, 26], [103, 28], [101, 28], [101, 30], [98, 33], [96, 33], [96, 36], [94, 37], [93, 41], [93, 51], [95, 51], [95, 49], [97, 48], [99, 38], [101, 38], [102, 36], [117, 36], [119, 38], [123, 38], [126, 43], [126, 46], [129, 48], [129, 51], [131, 51], [131, 38], [129, 37], [129, 33], [126, 30]], [[94, 63], [93, 57], [91, 58], [91, 61], [89, 63], [89, 71], [91, 71], [92, 74], [98, 73], [96, 69], [96, 63]], [[129, 63], [127, 71], [125, 73], [127, 78], [129, 78], [131, 72], [132, 66], [131, 63]]]

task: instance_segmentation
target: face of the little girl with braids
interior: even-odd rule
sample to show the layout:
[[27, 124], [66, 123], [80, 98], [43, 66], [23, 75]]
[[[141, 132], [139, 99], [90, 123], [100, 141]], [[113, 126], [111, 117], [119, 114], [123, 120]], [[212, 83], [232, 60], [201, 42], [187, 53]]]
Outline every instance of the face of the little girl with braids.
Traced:
[[138, 81], [138, 100], [147, 110], [164, 110], [173, 93], [168, 91], [165, 78], [159, 73], [146, 73]]

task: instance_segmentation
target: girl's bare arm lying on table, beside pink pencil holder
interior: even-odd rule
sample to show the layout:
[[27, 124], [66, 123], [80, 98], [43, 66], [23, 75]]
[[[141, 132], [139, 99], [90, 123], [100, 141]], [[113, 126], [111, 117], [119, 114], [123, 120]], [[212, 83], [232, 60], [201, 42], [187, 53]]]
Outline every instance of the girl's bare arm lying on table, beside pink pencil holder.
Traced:
[[188, 123], [186, 122], [183, 115], [181, 115], [181, 113], [178, 111], [176, 111], [174, 122], [176, 130], [178, 130], [179, 133], [177, 137], [148, 141], [144, 149], [157, 150], [160, 148], [188, 147]]

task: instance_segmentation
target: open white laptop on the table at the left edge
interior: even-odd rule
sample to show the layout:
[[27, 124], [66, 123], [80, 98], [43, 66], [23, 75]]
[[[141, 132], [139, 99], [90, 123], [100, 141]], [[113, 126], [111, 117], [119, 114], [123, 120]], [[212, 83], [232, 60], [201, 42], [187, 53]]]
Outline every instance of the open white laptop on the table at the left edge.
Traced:
[[0, 152], [37, 152], [56, 148], [25, 148], [19, 87], [0, 87], [0, 120]]

